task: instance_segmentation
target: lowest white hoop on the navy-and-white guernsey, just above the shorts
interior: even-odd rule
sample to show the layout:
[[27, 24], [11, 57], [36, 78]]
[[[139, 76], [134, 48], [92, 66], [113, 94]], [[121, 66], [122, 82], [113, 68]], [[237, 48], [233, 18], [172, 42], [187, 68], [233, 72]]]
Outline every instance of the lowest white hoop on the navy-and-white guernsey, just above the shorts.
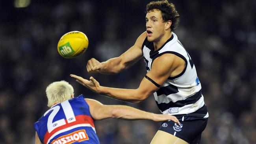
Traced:
[[197, 102], [189, 104], [189, 105], [185, 105], [183, 107], [179, 107], [178, 109], [178, 113], [169, 113], [169, 109], [161, 112], [162, 114], [170, 114], [170, 115], [176, 115], [176, 114], [189, 114], [189, 113], [193, 113], [195, 111], [197, 111], [198, 109], [200, 109], [202, 106], [204, 106], [204, 97], [202, 96]]

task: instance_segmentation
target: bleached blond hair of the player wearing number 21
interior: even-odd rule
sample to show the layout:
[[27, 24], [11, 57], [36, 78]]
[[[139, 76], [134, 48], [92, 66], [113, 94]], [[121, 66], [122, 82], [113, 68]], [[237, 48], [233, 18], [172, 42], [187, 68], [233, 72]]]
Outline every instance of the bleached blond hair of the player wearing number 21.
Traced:
[[45, 92], [48, 98], [47, 106], [51, 107], [55, 103], [69, 100], [71, 95], [74, 94], [74, 89], [67, 81], [55, 81], [48, 85]]

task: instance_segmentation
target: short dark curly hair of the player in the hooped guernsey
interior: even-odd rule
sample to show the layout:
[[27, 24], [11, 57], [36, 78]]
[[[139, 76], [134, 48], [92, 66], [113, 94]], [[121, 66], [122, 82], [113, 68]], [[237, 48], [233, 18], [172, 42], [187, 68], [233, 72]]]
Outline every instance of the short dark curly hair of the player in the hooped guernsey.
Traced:
[[168, 20], [172, 21], [171, 31], [176, 30], [180, 22], [180, 15], [178, 14], [178, 11], [173, 3], [169, 3], [167, 0], [150, 2], [146, 6], [146, 13], [154, 11], [154, 9], [158, 9], [162, 12], [164, 22]]

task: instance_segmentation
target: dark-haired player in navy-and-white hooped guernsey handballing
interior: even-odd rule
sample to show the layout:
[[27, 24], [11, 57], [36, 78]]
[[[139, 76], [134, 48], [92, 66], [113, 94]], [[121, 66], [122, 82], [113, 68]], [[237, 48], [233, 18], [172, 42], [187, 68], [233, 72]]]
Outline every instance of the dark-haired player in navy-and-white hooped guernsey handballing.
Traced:
[[208, 111], [195, 65], [173, 32], [179, 14], [167, 0], [150, 2], [146, 13], [146, 31], [131, 48], [101, 63], [92, 58], [86, 66], [87, 72], [116, 74], [143, 58], [147, 74], [137, 89], [103, 87], [93, 77], [71, 77], [99, 94], [127, 102], [142, 102], [154, 94], [161, 113], [176, 116], [181, 124], [163, 122], [151, 144], [197, 144], [206, 127]]

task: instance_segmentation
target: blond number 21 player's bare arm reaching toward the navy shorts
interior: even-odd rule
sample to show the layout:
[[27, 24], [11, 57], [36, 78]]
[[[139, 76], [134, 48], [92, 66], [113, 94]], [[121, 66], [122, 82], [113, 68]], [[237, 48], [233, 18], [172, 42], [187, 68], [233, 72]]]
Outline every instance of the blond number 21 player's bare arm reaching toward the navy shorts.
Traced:
[[180, 124], [175, 116], [168, 114], [154, 114], [134, 107], [126, 105], [103, 105], [102, 103], [93, 100], [85, 99], [90, 107], [90, 113], [95, 120], [102, 120], [105, 118], [121, 118], [126, 120], [153, 120], [156, 122], [172, 120]]

